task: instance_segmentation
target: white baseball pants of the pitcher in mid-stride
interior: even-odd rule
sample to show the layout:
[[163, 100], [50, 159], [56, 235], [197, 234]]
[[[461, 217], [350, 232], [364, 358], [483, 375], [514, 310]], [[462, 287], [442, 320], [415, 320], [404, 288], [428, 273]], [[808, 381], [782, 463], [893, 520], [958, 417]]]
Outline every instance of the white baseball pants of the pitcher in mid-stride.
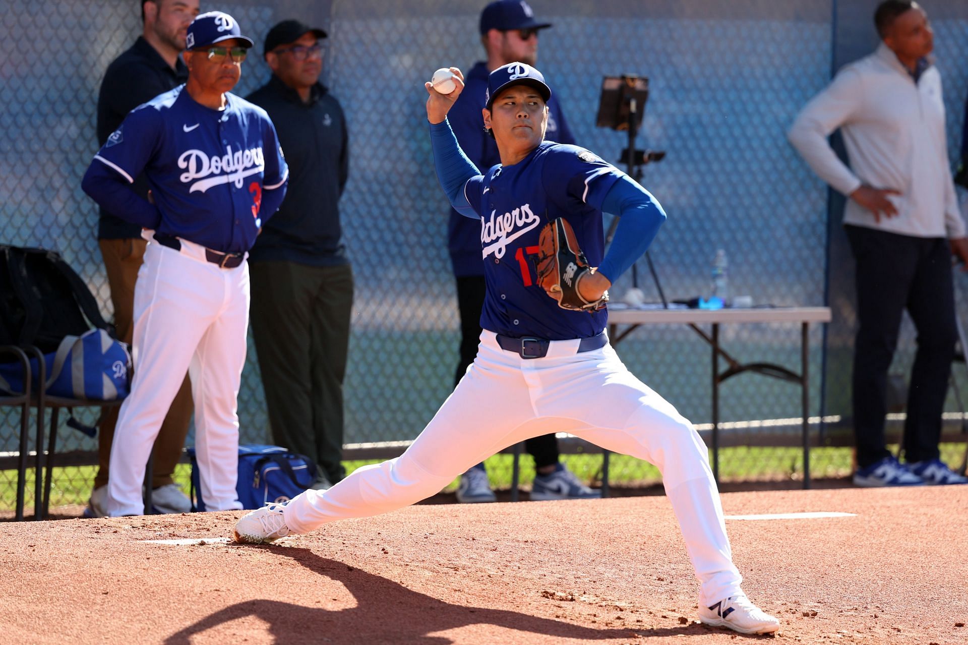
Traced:
[[485, 330], [477, 357], [437, 415], [396, 459], [365, 466], [324, 492], [308, 490], [285, 508], [294, 533], [364, 517], [434, 495], [507, 445], [568, 432], [654, 464], [679, 520], [708, 605], [740, 593], [706, 445], [676, 409], [643, 384], [610, 345], [576, 353], [579, 341], [551, 343], [522, 358]]

